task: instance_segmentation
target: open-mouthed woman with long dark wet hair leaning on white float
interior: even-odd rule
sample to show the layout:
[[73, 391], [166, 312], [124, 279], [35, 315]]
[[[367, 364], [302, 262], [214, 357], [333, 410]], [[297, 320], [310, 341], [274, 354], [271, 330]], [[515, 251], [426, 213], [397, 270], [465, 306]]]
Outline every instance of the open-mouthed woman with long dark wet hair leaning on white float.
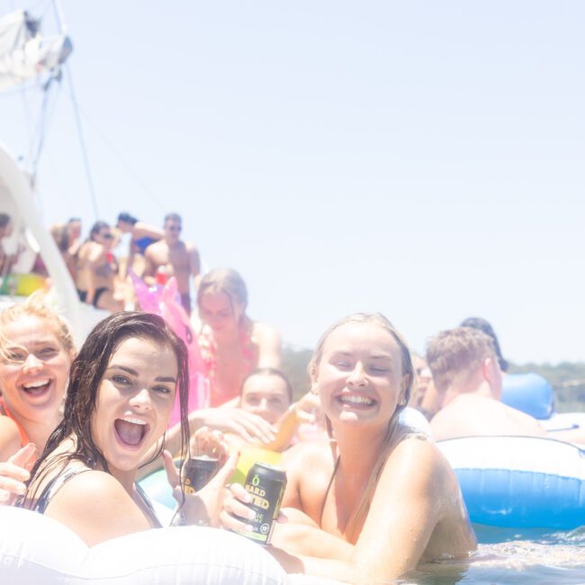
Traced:
[[[135, 480], [141, 462], [162, 449], [175, 395], [185, 453], [188, 383], [186, 348], [163, 319], [126, 312], [103, 320], [71, 365], [64, 419], [20, 505], [57, 519], [87, 545], [160, 526]], [[225, 482], [231, 469], [221, 472]], [[179, 498], [184, 523], [207, 518], [204, 497]]]

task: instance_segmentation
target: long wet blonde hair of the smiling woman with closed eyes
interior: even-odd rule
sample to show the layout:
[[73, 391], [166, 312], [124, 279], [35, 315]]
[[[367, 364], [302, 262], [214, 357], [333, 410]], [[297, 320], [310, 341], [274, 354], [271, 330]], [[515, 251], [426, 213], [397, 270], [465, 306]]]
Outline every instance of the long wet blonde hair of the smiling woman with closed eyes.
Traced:
[[[410, 400], [410, 393], [415, 389], [417, 377], [414, 372], [414, 365], [412, 364], [412, 356], [410, 356], [409, 347], [407, 346], [406, 341], [404, 338], [402, 338], [399, 331], [394, 328], [392, 322], [384, 317], [382, 313], [354, 313], [353, 315], [349, 315], [342, 320], [338, 320], [337, 323], [333, 324], [321, 336], [319, 342], [317, 343], [317, 347], [315, 347], [313, 356], [311, 357], [311, 362], [309, 363], [309, 375], [311, 376], [311, 382], [314, 383], [317, 379], [317, 371], [323, 357], [323, 348], [325, 347], [325, 343], [327, 342], [329, 336], [336, 329], [349, 323], [371, 323], [387, 331], [392, 336], [392, 338], [394, 338], [394, 341], [396, 341], [398, 347], [401, 350], [402, 377], [406, 379], [401, 399], [399, 400], [399, 403], [396, 406], [396, 410], [394, 410], [391, 419], [388, 421], [386, 435], [383, 439], [383, 444], [380, 447], [380, 453], [378, 454], [378, 458], [374, 464], [374, 469], [372, 470], [370, 479], [365, 486], [365, 491], [362, 494], [356, 509], [351, 513], [349, 519], [347, 520], [347, 538], [349, 542], [355, 543], [362, 527], [364, 526], [365, 518], [370, 509], [372, 499], [374, 498], [374, 491], [378, 481], [380, 480], [380, 476], [382, 475], [384, 464], [388, 460], [392, 449], [394, 446], [396, 446], [398, 440], [401, 437], [401, 431], [398, 433], [395, 432], [397, 430], [396, 421], [398, 420], [401, 410], [406, 408], [406, 405]], [[327, 417], [325, 419], [329, 437], [335, 440], [335, 437], [333, 437], [331, 422]]]

